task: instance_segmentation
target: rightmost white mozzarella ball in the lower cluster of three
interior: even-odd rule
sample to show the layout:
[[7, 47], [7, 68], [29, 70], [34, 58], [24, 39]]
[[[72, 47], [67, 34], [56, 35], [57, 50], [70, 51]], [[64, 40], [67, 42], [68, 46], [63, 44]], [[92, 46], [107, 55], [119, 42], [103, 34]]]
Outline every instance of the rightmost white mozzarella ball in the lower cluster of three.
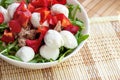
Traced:
[[62, 35], [62, 38], [64, 40], [64, 47], [70, 49], [77, 47], [77, 40], [71, 32], [63, 30], [60, 32], [60, 34]]

